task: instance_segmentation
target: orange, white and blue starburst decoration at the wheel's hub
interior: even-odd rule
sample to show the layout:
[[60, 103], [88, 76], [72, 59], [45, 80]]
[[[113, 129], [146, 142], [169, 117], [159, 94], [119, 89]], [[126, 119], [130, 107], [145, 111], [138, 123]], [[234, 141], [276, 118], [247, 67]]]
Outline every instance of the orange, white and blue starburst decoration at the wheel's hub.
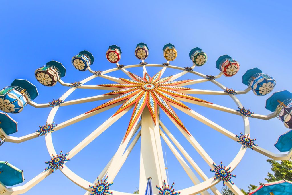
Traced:
[[146, 106], [151, 114], [151, 117], [154, 123], [156, 124], [157, 108], [159, 106], [183, 130], [185, 130], [185, 132], [187, 132], [190, 135], [188, 130], [185, 128], [183, 123], [180, 121], [176, 113], [171, 108], [170, 103], [176, 104], [183, 108], [190, 109], [184, 103], [179, 101], [178, 98], [183, 98], [183, 99], [188, 99], [188, 100], [193, 100], [193, 101], [200, 101], [204, 103], [210, 103], [210, 102], [207, 102], [202, 99], [180, 92], [181, 90], [190, 89], [187, 87], [182, 87], [180, 85], [186, 82], [189, 82], [191, 80], [174, 81], [174, 79], [172, 79], [173, 76], [160, 78], [161, 74], [162, 72], [159, 71], [153, 77], [150, 77], [147, 73], [145, 73], [144, 77], [142, 78], [142, 77], [139, 77], [138, 75], [135, 75], [129, 72], [129, 75], [131, 76], [132, 79], [120, 78], [124, 83], [100, 85], [100, 86], [105, 86], [105, 87], [120, 88], [118, 90], [106, 93], [104, 95], [113, 95], [113, 94], [120, 94], [120, 95], [114, 99], [111, 99], [110, 101], [106, 103], [103, 103], [102, 105], [92, 109], [91, 111], [87, 113], [96, 111], [100, 108], [104, 108], [106, 106], [112, 105], [120, 101], [125, 101], [125, 103], [114, 114], [114, 115], [117, 115], [118, 113], [124, 111], [126, 108], [129, 108], [130, 106], [134, 105], [134, 111], [132, 113], [129, 126], [126, 131], [126, 135], [124, 138], [125, 140], [130, 130], [133, 128], [135, 122], [137, 122], [138, 118], [140, 117], [140, 115], [142, 114], [142, 111], [144, 110]]

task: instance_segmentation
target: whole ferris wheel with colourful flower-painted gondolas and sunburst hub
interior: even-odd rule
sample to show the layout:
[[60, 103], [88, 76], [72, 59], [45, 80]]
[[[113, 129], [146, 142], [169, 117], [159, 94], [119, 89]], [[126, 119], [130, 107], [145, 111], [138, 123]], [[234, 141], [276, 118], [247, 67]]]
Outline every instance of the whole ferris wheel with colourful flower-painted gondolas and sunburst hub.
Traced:
[[[48, 159], [46, 162], [45, 170], [32, 180], [22, 186], [10, 188], [6, 186], [13, 186], [24, 181], [23, 172], [6, 161], [0, 161], [0, 194], [23, 194], [48, 177], [48, 175], [51, 175], [59, 169], [69, 178], [69, 180], [85, 189], [87, 191], [86, 194], [129, 195], [131, 193], [114, 191], [110, 188], [113, 185], [115, 177], [139, 139], [141, 139], [139, 178], [140, 194], [151, 194], [151, 191], [153, 191], [153, 194], [163, 195], [191, 195], [199, 193], [208, 195], [209, 193], [206, 190], [211, 189], [214, 194], [218, 195], [220, 194], [220, 191], [215, 187], [215, 184], [218, 182], [223, 182], [223, 185], [227, 185], [234, 194], [242, 194], [240, 189], [232, 182], [232, 177], [236, 177], [232, 174], [232, 171], [239, 164], [247, 149], [252, 149], [253, 151], [261, 153], [274, 160], [291, 159], [292, 143], [285, 139], [287, 136], [291, 136], [291, 131], [281, 135], [277, 144], [275, 144], [277, 149], [284, 153], [275, 154], [259, 147], [256, 144], [256, 139], [249, 137], [250, 127], [248, 119], [253, 117], [256, 119], [269, 120], [278, 117], [287, 128], [291, 129], [292, 94], [286, 90], [272, 94], [272, 96], [267, 99], [266, 105], [266, 108], [273, 112], [269, 115], [252, 113], [249, 109], [244, 108], [237, 98], [238, 95], [246, 94], [249, 91], [252, 91], [257, 96], [269, 94], [272, 92], [276, 84], [273, 77], [262, 73], [258, 68], [247, 70], [242, 78], [243, 83], [248, 87], [245, 90], [237, 91], [229, 89], [218, 82], [218, 79], [221, 76], [232, 77], [239, 71], [239, 63], [228, 55], [220, 56], [218, 58], [216, 61], [216, 68], [220, 70], [220, 73], [213, 76], [204, 75], [194, 71], [196, 66], [202, 66], [207, 61], [207, 55], [198, 47], [190, 51], [189, 56], [192, 60], [192, 65], [190, 67], [179, 67], [170, 64], [171, 61], [175, 60], [177, 57], [177, 50], [172, 44], [166, 44], [163, 47], [162, 50], [166, 62], [162, 64], [150, 64], [145, 62], [145, 59], [149, 55], [148, 50], [147, 44], [138, 44], [135, 49], [135, 56], [141, 60], [141, 63], [123, 65], [119, 64], [122, 54], [121, 48], [116, 45], [109, 46], [106, 51], [106, 58], [109, 62], [115, 63], [116, 67], [104, 71], [92, 70], [90, 66], [94, 62], [93, 55], [86, 50], [80, 51], [79, 54], [73, 56], [72, 65], [79, 71], [90, 71], [93, 74], [80, 82], [64, 82], [61, 78], [65, 76], [66, 69], [62, 63], [57, 61], [46, 63], [46, 65], [36, 69], [36, 79], [44, 86], [54, 86], [59, 82], [61, 85], [69, 87], [59, 99], [53, 100], [49, 103], [38, 104], [32, 101], [39, 94], [36, 87], [27, 80], [15, 79], [11, 83], [11, 86], [2, 89], [0, 91], [0, 111], [2, 111], [0, 113], [0, 146], [4, 144], [4, 142], [21, 143], [23, 141], [29, 141], [30, 139], [37, 139], [40, 136], [45, 136], [46, 146], [49, 155], [52, 156], [52, 158]], [[161, 67], [161, 69], [156, 74], [149, 75], [147, 69], [152, 67]], [[132, 73], [132, 68], [139, 68], [141, 70], [141, 75]], [[163, 76], [164, 72], [169, 68], [179, 70], [180, 72], [171, 76]], [[118, 78], [107, 75], [114, 71], [119, 71], [121, 77]], [[197, 75], [201, 77], [201, 79], [179, 80], [181, 76], [186, 74], [191, 75], [190, 77]], [[110, 80], [112, 84], [86, 85], [86, 82], [98, 77]], [[215, 84], [218, 86], [218, 91], [192, 89], [188, 87], [202, 82], [211, 82]], [[108, 92], [96, 96], [66, 101], [66, 98], [74, 91], [78, 91], [78, 89], [101, 89], [108, 90]], [[195, 94], [230, 96], [238, 109], [216, 105], [212, 102], [195, 97]], [[92, 110], [84, 111], [84, 113], [60, 124], [55, 124], [53, 122], [58, 109], [62, 106], [99, 100], [108, 101], [99, 104], [98, 107], [93, 108]], [[242, 117], [244, 132], [238, 132], [238, 135], [233, 134], [207, 117], [192, 110], [185, 104], [185, 102]], [[48, 115], [47, 123], [40, 126], [40, 129], [32, 134], [22, 137], [12, 137], [10, 134], [17, 132], [17, 122], [8, 114], [20, 113], [26, 105], [35, 108], [50, 107], [51, 112]], [[119, 106], [118, 109], [116, 108], [117, 106]], [[183, 120], [181, 120], [181, 117], [178, 116], [173, 108], [176, 108], [195, 120], [202, 122], [204, 125], [213, 128], [228, 139], [234, 140], [235, 143], [241, 144], [241, 148], [234, 156], [234, 159], [229, 164], [223, 164], [222, 162], [217, 162], [216, 164], [211, 156], [209, 156], [199, 142], [193, 137], [188, 128], [183, 124]], [[53, 145], [53, 135], [55, 131], [61, 130], [64, 127], [80, 122], [94, 115], [98, 115], [109, 109], [113, 111], [113, 115], [77, 144], [71, 151], [68, 153], [65, 151], [64, 153], [62, 153], [62, 151], [55, 151]], [[121, 143], [118, 150], [94, 182], [84, 180], [66, 166], [67, 162], [74, 161], [74, 156], [77, 153], [132, 109], [131, 118], [128, 119], [128, 128], [125, 129], [124, 137], [121, 137]], [[167, 125], [164, 125], [164, 123], [161, 122], [159, 118], [159, 113], [161, 112], [165, 113], [185, 137], [185, 140], [192, 145], [193, 149], [197, 151], [210, 166], [211, 171], [214, 173], [213, 177], [208, 178], [206, 176], [206, 171], [209, 172], [210, 170], [202, 170], [183, 148], [180, 142], [177, 141], [172, 132], [168, 130], [166, 127]], [[164, 140], [182, 168], [190, 177], [190, 180], [193, 183], [192, 187], [177, 189], [172, 183], [175, 181], [168, 181], [161, 140]], [[197, 178], [192, 169], [197, 172], [203, 182]]]

